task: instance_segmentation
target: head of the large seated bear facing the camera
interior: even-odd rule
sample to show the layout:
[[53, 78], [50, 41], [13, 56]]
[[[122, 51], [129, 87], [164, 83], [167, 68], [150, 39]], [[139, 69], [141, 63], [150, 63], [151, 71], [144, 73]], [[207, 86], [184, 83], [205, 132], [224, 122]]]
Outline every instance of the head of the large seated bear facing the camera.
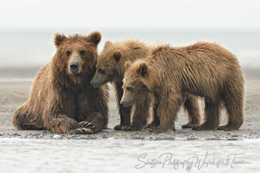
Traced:
[[53, 42], [57, 51], [53, 57], [53, 68], [59, 76], [64, 74], [74, 83], [82, 83], [93, 69], [95, 73], [97, 46], [100, 40], [101, 34], [97, 31], [89, 35], [74, 34], [68, 37], [56, 33]]

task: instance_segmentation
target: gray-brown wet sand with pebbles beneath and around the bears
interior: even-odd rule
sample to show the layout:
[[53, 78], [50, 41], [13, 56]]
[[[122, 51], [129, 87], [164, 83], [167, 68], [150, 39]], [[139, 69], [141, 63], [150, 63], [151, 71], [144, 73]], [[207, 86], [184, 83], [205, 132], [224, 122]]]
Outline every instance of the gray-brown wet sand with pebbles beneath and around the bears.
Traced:
[[[126, 138], [126, 139], [257, 139], [260, 138], [260, 80], [246, 80], [246, 106], [245, 121], [239, 130], [234, 131], [194, 131], [181, 129], [181, 125], [187, 122], [186, 115], [181, 109], [178, 113], [178, 121], [175, 123], [176, 131], [168, 131], [162, 134], [152, 134], [142, 131], [115, 131], [113, 127], [120, 122], [120, 117], [115, 103], [113, 88], [110, 85], [110, 119], [108, 129], [93, 135], [67, 135], [57, 134], [53, 138], [50, 131], [19, 131], [14, 130], [11, 118], [17, 107], [28, 98], [32, 81], [2, 81], [0, 82], [0, 137], [9, 138], [43, 138], [43, 139], [100, 139], [100, 138]], [[204, 102], [201, 101], [201, 113]], [[222, 111], [221, 125], [225, 125], [227, 118]], [[36, 136], [36, 137], [35, 137]], [[237, 136], [237, 137], [236, 137]]]

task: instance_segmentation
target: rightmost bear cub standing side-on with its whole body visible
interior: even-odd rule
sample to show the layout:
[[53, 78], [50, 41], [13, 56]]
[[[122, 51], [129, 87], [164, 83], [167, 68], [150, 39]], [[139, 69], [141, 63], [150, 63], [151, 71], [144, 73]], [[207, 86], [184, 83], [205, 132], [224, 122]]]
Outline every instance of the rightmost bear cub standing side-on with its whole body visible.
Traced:
[[[159, 133], [172, 128], [180, 106], [194, 96], [204, 98], [205, 110], [204, 122], [193, 125], [192, 129], [227, 131], [237, 130], [243, 124], [243, 73], [235, 55], [217, 43], [196, 42], [184, 47], [159, 45], [147, 59], [126, 66], [121, 101], [131, 106], [139, 101], [136, 97], [139, 93], [154, 96], [153, 111], [160, 124], [150, 131]], [[218, 127], [222, 105], [228, 123]]]

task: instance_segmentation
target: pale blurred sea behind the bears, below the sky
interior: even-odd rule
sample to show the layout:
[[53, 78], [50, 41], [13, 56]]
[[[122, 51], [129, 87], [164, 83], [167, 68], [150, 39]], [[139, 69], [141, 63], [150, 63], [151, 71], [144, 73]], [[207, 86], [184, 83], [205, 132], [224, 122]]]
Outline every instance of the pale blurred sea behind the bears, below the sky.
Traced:
[[[55, 32], [88, 34], [92, 31], [0, 31], [0, 80], [34, 78], [35, 72], [30, 75], [27, 71], [28, 69], [38, 70], [50, 61], [56, 51], [53, 45]], [[189, 45], [205, 40], [221, 43], [238, 57], [243, 68], [260, 68], [260, 31], [100, 30], [100, 32], [103, 37], [98, 47], [99, 52], [102, 51], [106, 40], [116, 42], [136, 38], [149, 44], [160, 41], [173, 46]], [[17, 73], [13, 74], [12, 69], [15, 69]]]

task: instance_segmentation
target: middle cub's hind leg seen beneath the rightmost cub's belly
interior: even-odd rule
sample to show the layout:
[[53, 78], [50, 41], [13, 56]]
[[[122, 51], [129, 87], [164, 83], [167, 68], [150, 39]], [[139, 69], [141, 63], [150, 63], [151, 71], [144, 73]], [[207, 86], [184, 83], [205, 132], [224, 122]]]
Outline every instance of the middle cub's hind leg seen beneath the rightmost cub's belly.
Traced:
[[183, 104], [184, 112], [188, 114], [188, 123], [181, 126], [181, 128], [191, 128], [191, 126], [200, 124], [200, 106], [199, 99], [194, 95], [189, 95]]

